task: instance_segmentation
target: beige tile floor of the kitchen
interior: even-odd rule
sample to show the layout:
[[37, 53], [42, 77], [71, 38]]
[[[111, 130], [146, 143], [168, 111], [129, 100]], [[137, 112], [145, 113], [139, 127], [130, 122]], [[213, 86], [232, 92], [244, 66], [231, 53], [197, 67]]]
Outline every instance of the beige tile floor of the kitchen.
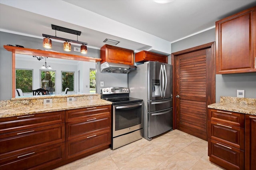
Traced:
[[106, 149], [56, 170], [223, 170], [209, 162], [205, 140], [173, 130], [115, 150]]

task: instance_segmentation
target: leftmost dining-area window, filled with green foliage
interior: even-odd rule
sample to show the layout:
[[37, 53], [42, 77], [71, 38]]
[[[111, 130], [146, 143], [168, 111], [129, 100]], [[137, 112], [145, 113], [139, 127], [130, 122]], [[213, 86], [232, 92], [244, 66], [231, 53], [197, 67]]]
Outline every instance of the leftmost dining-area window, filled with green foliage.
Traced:
[[21, 89], [23, 93], [32, 92], [33, 70], [16, 69], [16, 89]]

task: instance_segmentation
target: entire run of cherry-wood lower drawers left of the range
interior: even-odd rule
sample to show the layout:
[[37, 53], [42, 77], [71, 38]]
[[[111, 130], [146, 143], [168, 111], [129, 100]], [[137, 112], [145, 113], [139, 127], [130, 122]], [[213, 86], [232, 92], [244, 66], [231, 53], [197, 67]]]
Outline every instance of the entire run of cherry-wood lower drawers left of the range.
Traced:
[[0, 119], [1, 170], [50, 170], [110, 144], [111, 105]]

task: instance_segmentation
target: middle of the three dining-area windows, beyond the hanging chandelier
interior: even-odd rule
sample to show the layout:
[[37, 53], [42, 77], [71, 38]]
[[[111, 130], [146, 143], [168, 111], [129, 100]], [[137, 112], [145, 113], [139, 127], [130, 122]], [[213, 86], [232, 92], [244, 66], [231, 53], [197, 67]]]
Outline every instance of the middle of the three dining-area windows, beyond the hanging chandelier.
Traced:
[[49, 94], [55, 91], [55, 71], [41, 70], [41, 88], [49, 90]]

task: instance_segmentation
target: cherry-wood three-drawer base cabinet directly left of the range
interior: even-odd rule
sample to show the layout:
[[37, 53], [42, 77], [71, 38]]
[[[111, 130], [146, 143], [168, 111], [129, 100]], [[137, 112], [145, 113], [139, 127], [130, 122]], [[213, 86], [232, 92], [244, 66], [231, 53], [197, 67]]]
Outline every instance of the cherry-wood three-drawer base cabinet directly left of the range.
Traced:
[[65, 158], [80, 158], [111, 144], [111, 105], [66, 111]]

